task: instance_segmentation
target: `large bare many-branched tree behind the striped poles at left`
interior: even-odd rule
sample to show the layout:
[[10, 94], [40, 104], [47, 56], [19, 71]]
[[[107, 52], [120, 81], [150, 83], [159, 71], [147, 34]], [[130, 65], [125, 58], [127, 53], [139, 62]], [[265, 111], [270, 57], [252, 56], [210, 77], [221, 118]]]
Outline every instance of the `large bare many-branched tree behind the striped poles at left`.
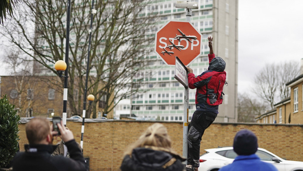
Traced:
[[[83, 99], [90, 2], [72, 0], [68, 99], [74, 99], [75, 89], [79, 91], [78, 99]], [[64, 1], [59, 0], [23, 1], [22, 6], [16, 7], [18, 15], [9, 21], [10, 26], [3, 26], [2, 35], [34, 59], [35, 72], [56, 73], [50, 64], [65, 56], [65, 5]], [[148, 35], [147, 31], [156, 21], [156, 13], [141, 12], [147, 5], [148, 1], [142, 0], [97, 1], [95, 5], [97, 13], [93, 15], [88, 81], [88, 93], [96, 97], [92, 103], [93, 117], [96, 116], [96, 107], [100, 101], [105, 102], [102, 108], [107, 113], [113, 110], [115, 100], [117, 102], [117, 99], [119, 101], [131, 92], [139, 91], [138, 86], [131, 85], [131, 78], [145, 67], [144, 58], [154, 41], [153, 35]], [[142, 80], [136, 80], [136, 84], [140, 82]], [[122, 88], [129, 90], [121, 94], [119, 91]], [[80, 100], [68, 100], [68, 105], [72, 115], [82, 113]]]

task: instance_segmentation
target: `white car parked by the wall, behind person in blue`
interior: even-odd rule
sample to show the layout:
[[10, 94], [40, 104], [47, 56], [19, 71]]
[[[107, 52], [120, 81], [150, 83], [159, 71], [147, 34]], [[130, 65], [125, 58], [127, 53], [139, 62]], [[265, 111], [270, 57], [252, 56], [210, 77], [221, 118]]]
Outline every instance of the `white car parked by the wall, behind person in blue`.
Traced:
[[[238, 156], [233, 147], [218, 147], [205, 149], [206, 153], [200, 156], [198, 171], [216, 171], [234, 161]], [[256, 154], [266, 162], [272, 163], [279, 171], [303, 171], [303, 162], [281, 159], [277, 155], [258, 148]]]

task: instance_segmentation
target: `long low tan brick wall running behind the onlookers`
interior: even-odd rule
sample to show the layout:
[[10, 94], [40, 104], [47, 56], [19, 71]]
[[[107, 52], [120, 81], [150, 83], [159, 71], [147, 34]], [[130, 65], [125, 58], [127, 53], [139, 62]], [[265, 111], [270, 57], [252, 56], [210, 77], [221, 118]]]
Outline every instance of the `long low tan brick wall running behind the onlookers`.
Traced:
[[[108, 122], [86, 122], [83, 137], [83, 154], [90, 158], [90, 170], [119, 170], [125, 149], [135, 142], [142, 132], [154, 122], [113, 120]], [[168, 129], [172, 148], [182, 155], [182, 122], [160, 122]], [[67, 121], [66, 126], [81, 140], [81, 122]], [[20, 150], [28, 143], [25, 124], [20, 124]], [[240, 129], [250, 129], [258, 137], [258, 145], [288, 160], [303, 161], [303, 126], [289, 124], [245, 124], [213, 123], [204, 133], [203, 149], [232, 146], [233, 138]], [[54, 144], [60, 138], [54, 140]]]

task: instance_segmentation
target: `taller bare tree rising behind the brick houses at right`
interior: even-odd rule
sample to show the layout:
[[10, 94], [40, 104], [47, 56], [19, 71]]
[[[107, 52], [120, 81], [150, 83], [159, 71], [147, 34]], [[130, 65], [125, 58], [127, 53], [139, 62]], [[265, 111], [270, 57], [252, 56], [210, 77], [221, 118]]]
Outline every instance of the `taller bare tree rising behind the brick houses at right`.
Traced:
[[261, 99], [268, 102], [271, 109], [276, 100], [283, 100], [290, 96], [285, 83], [291, 81], [299, 74], [298, 62], [289, 61], [276, 64], [267, 64], [255, 76], [253, 92]]

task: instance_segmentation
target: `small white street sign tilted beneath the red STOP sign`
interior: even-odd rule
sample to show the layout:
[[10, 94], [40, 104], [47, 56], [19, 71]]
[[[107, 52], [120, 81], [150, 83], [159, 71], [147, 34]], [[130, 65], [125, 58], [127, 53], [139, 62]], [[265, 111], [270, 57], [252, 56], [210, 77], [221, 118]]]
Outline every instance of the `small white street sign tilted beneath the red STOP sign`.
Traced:
[[181, 62], [181, 60], [176, 57], [176, 64], [175, 64], [175, 76], [174, 78], [178, 80], [184, 87], [188, 87], [188, 77], [187, 73], [188, 70], [186, 66]]

